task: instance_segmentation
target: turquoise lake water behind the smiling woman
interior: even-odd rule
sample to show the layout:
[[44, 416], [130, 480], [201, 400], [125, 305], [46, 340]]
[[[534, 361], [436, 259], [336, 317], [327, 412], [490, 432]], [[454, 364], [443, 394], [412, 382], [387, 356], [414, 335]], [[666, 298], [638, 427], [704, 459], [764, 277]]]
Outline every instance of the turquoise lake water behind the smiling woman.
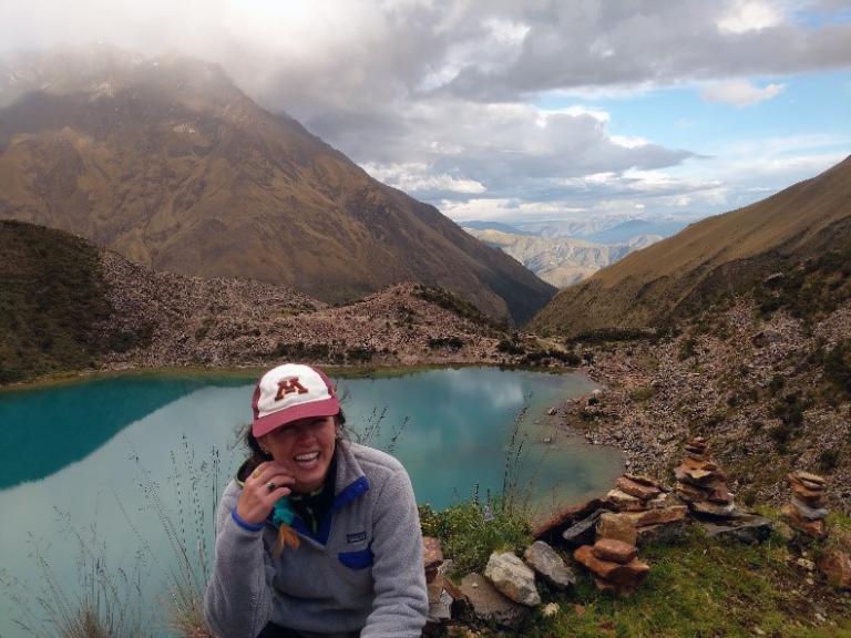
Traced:
[[[580, 374], [493, 368], [338, 380], [351, 438], [391, 451], [418, 501], [437, 508], [476, 485], [482, 501], [500, 492], [526, 407], [519, 484], [533, 485], [540, 515], [605, 493], [623, 471], [619, 453], [560, 435], [545, 414], [594, 387]], [[123, 568], [154, 609], [178, 564], [166, 531], [192, 553], [211, 550], [213, 504], [243, 460], [236, 432], [250, 421], [252, 390], [244, 378], [139, 374], [0, 393], [0, 637], [28, 635], [16, 618], [38, 627], [45, 587], [49, 604], [64, 605], [81, 562]]]

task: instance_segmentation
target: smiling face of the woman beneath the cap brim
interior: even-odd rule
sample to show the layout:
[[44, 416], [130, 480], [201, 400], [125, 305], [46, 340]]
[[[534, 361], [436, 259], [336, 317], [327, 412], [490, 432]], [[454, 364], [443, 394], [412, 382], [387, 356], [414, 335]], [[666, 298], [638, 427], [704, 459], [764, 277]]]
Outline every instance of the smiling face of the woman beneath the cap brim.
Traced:
[[273, 459], [296, 480], [295, 492], [319, 490], [331, 464], [337, 435], [335, 416], [299, 419], [259, 438]]

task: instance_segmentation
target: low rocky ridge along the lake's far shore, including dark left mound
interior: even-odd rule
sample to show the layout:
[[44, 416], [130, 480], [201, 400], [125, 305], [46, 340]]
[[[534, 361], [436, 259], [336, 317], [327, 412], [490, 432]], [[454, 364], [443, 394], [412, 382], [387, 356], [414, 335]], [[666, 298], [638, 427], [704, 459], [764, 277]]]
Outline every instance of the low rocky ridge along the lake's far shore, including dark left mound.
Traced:
[[[0, 222], [0, 384], [168, 366], [564, 363], [441, 288], [330, 307], [291, 288], [155, 271], [68, 233]], [[562, 357], [562, 358], [560, 358]], [[575, 363], [575, 361], [573, 361]]]

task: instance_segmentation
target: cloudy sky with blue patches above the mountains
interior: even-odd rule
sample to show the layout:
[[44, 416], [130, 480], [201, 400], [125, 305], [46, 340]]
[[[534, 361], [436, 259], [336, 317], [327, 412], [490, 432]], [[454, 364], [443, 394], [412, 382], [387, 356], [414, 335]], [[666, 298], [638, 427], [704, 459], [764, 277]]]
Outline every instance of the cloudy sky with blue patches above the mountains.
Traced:
[[0, 53], [219, 63], [455, 220], [698, 218], [851, 154], [851, 0], [0, 0]]

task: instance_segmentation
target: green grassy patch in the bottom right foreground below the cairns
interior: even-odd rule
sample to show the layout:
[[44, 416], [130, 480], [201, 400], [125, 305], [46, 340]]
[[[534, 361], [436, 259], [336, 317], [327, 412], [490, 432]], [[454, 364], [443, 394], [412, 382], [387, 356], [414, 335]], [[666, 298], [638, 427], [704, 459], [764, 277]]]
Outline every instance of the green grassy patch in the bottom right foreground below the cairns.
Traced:
[[[535, 614], [517, 635], [851, 637], [848, 604], [829, 589], [806, 585], [780, 538], [757, 546], [722, 544], [695, 529], [679, 544], [643, 547], [640, 557], [650, 573], [630, 598], [602, 594], [581, 574], [573, 591], [545, 596], [558, 603], [561, 614], [552, 619]], [[814, 627], [814, 609], [839, 626]]]

